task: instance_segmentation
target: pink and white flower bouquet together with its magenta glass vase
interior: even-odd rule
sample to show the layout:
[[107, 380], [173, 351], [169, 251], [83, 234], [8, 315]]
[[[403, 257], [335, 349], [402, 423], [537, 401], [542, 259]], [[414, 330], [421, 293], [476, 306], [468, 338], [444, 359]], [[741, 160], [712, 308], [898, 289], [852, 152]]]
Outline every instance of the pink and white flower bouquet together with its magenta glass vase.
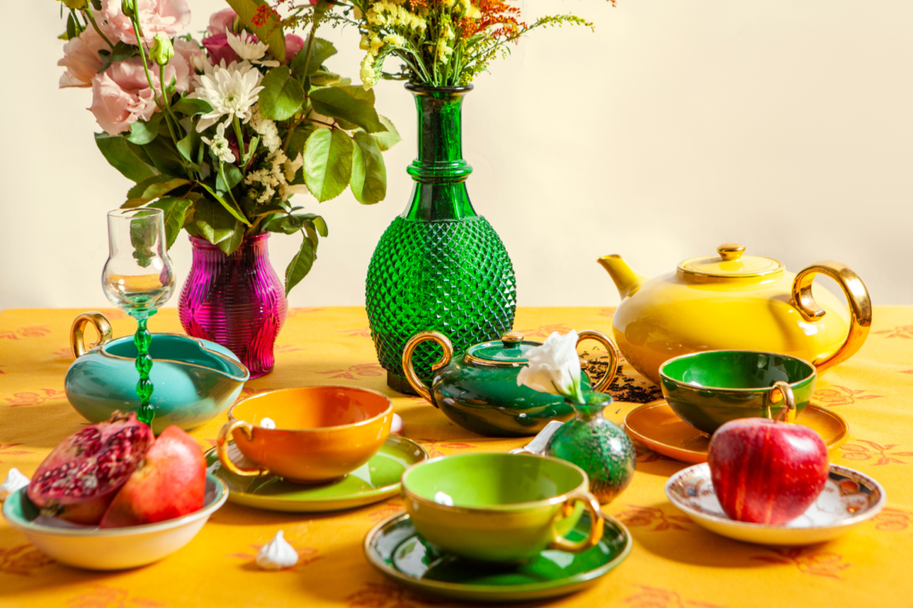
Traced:
[[[182, 229], [191, 236], [184, 330], [234, 351], [251, 377], [269, 372], [286, 296], [327, 236], [289, 198], [350, 187], [362, 204], [383, 200], [382, 152], [399, 141], [373, 91], [326, 68], [336, 49], [315, 32], [330, 5], [286, 7], [291, 25], [309, 27], [302, 38], [267, 3], [228, 0], [197, 42], [183, 34], [184, 0], [62, 2], [60, 86], [92, 89], [99, 150], [135, 182], [123, 207], [162, 209], [169, 247]], [[295, 20], [305, 10], [307, 23]], [[284, 288], [269, 233], [302, 236]]]

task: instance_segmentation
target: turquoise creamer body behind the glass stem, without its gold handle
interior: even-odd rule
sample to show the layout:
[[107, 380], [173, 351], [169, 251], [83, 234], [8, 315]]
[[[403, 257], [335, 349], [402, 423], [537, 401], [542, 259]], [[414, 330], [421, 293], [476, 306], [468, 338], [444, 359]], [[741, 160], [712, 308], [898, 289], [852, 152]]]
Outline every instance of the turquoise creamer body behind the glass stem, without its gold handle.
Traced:
[[[211, 341], [153, 333], [149, 353], [156, 435], [170, 425], [189, 430], [222, 414], [250, 377], [231, 351]], [[93, 423], [108, 420], [114, 410], [135, 412], [140, 407], [135, 358], [132, 337], [87, 351], [69, 366], [64, 381], [69, 403]]]

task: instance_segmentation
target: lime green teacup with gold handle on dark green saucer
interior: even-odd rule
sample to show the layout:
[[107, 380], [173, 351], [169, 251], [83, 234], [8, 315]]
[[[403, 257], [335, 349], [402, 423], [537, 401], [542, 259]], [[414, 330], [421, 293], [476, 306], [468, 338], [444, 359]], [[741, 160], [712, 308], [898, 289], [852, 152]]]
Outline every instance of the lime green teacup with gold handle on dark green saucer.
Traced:
[[[403, 474], [415, 529], [442, 550], [475, 561], [530, 560], [547, 549], [580, 552], [603, 537], [599, 502], [578, 466], [548, 456], [461, 454]], [[590, 512], [590, 536], [564, 539]]]

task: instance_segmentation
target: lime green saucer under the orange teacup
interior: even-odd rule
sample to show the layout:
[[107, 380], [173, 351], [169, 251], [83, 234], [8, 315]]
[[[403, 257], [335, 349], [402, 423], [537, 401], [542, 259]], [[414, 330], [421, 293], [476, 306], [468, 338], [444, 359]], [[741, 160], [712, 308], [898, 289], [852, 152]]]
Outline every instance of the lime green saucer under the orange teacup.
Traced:
[[[236, 453], [229, 445], [229, 454]], [[247, 466], [244, 456], [234, 455], [239, 465]], [[428, 457], [425, 448], [396, 435], [387, 437], [380, 452], [339, 481], [320, 486], [303, 486], [275, 475], [239, 477], [226, 470], [215, 455], [206, 452], [208, 472], [228, 487], [228, 502], [269, 511], [308, 513], [361, 507], [390, 498], [399, 492], [403, 471]]]

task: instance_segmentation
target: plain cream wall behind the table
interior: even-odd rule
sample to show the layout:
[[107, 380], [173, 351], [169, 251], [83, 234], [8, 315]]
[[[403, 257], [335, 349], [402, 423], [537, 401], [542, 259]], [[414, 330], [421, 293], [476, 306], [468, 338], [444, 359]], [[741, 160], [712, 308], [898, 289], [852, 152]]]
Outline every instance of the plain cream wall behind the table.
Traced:
[[[189, 4], [194, 31], [225, 6]], [[596, 257], [653, 275], [727, 241], [793, 271], [842, 261], [876, 304], [913, 304], [913, 2], [520, 5], [529, 21], [596, 24], [534, 33], [467, 97], [469, 192], [509, 249], [520, 305], [614, 305]], [[92, 142], [90, 91], [57, 88], [59, 3], [17, 3], [13, 23], [0, 37], [0, 308], [108, 306], [105, 213], [130, 183]], [[357, 33], [321, 35], [340, 50], [330, 67], [357, 78]], [[376, 90], [404, 138], [385, 154], [387, 199], [296, 198], [331, 234], [292, 306], [362, 305], [373, 246], [407, 201], [415, 110], [400, 83]], [[281, 276], [297, 237], [270, 241]], [[171, 256], [185, 277], [184, 236]]]

